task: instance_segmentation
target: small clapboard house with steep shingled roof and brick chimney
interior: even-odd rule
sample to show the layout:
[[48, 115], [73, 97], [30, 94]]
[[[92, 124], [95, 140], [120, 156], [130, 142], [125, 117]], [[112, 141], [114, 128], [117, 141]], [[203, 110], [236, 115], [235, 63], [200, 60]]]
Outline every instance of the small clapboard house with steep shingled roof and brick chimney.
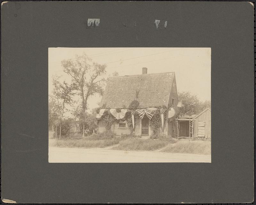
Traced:
[[[163, 128], [158, 133], [177, 138], [177, 126], [175, 119], [180, 111], [178, 107], [178, 93], [174, 72], [147, 73], [147, 68], [142, 68], [140, 75], [127, 75], [109, 77], [106, 89], [102, 96], [100, 107], [106, 106], [112, 109], [128, 107], [130, 103], [137, 99], [140, 107], [166, 106], [169, 111], [172, 109], [173, 117], [168, 118], [168, 112], [164, 118]], [[103, 119], [99, 121], [99, 132], [104, 132], [106, 124]], [[117, 135], [130, 134], [127, 121], [114, 121], [111, 131]], [[148, 138], [152, 135], [150, 119], [147, 115], [137, 118], [134, 122], [134, 134]]]

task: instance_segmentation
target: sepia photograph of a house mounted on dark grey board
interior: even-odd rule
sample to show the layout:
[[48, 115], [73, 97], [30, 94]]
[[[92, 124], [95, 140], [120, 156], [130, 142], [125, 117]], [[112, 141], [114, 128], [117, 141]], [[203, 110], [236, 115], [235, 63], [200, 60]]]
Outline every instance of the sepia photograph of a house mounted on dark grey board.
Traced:
[[211, 48], [48, 48], [48, 82], [50, 163], [211, 163]]

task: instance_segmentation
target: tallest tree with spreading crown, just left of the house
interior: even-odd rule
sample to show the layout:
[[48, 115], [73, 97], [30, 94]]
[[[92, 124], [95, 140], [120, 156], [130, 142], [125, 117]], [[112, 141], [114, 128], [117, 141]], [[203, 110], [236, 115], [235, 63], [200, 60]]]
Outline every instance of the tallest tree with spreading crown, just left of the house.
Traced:
[[76, 55], [76, 59], [61, 61], [63, 71], [72, 77], [77, 85], [82, 99], [83, 112], [87, 109], [87, 100], [96, 93], [102, 95], [106, 79], [102, 77], [106, 73], [105, 64], [93, 62], [86, 54]]

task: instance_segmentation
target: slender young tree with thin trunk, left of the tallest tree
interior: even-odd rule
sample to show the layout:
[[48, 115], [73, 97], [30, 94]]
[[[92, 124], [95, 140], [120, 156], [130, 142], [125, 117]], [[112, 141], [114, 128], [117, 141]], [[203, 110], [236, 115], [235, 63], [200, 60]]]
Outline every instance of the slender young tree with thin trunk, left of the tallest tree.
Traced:
[[72, 96], [74, 95], [74, 84], [67, 84], [65, 81], [60, 83], [59, 77], [52, 78], [53, 95], [56, 99], [59, 119], [60, 119], [60, 139], [61, 139], [61, 123], [63, 115], [67, 111], [66, 106], [73, 103]]

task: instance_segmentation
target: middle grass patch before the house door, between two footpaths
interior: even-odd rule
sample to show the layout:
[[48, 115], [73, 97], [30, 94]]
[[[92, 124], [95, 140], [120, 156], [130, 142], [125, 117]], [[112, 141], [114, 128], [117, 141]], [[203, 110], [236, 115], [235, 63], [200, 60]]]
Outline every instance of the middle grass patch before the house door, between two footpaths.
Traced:
[[126, 139], [120, 141], [114, 150], [159, 150], [166, 146], [169, 142], [162, 140], [152, 140], [152, 139]]

